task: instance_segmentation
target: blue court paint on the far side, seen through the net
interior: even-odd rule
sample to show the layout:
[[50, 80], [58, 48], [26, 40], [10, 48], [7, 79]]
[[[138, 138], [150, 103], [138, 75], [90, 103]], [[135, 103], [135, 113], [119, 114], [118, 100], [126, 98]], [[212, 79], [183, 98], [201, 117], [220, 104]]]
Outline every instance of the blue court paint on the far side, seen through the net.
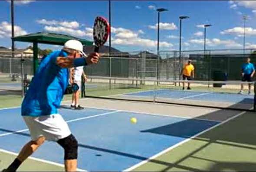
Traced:
[[[209, 94], [207, 94], [209, 93]], [[240, 95], [236, 93], [219, 93], [219, 92], [197, 92], [197, 91], [183, 91], [172, 89], [159, 89], [155, 92], [158, 98], [170, 99], [189, 99], [212, 102], [230, 102], [230, 103], [244, 103], [253, 105], [253, 95]], [[154, 91], [134, 92], [124, 94], [124, 96], [145, 96], [153, 97]]]

